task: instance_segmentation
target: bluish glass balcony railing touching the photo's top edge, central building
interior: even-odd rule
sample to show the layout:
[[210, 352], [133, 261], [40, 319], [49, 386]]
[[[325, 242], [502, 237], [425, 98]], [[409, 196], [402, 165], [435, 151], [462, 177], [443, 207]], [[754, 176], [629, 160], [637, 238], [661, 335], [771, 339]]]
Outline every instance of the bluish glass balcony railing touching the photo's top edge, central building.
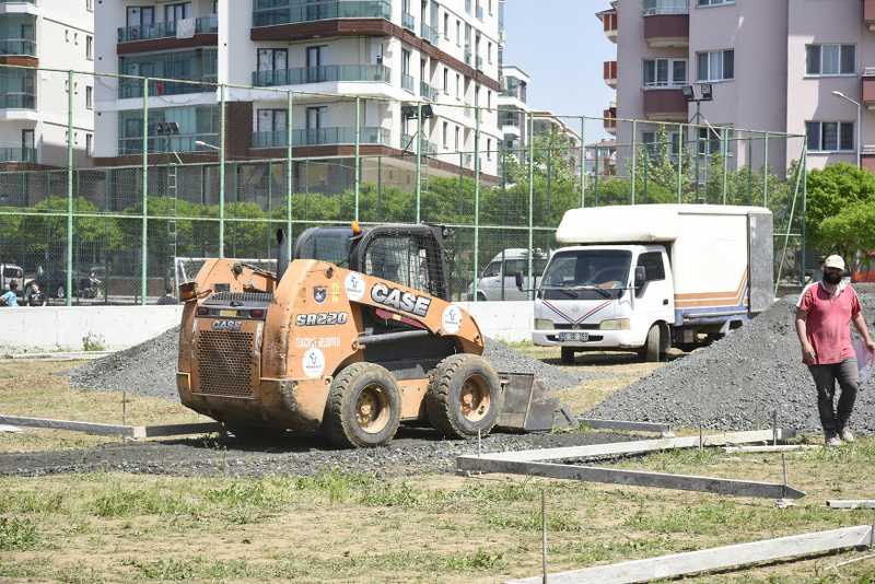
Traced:
[[331, 19], [392, 19], [389, 0], [316, 0], [291, 7], [276, 4], [276, 0], [255, 0], [253, 26]]

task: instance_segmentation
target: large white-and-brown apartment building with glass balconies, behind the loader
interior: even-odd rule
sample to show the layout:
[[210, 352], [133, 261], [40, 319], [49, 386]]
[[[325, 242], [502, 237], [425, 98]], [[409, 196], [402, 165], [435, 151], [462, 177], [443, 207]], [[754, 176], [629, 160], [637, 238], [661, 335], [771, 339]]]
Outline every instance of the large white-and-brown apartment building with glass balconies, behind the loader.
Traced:
[[[498, 0], [118, 0], [98, 7], [97, 25], [118, 31], [98, 39], [98, 71], [255, 87], [225, 91], [229, 160], [285, 155], [295, 91], [306, 93], [294, 96], [295, 157], [352, 155], [360, 96], [362, 155], [410, 171], [421, 141], [430, 170], [472, 172], [479, 129], [481, 172], [497, 173]], [[124, 164], [142, 148], [141, 92], [135, 82], [98, 93], [102, 163]], [[431, 110], [421, 133], [405, 107], [418, 103]], [[149, 104], [150, 120], [179, 129], [162, 137], [155, 126], [158, 160], [215, 160], [213, 86], [154, 84]], [[475, 105], [491, 112], [478, 120]]]

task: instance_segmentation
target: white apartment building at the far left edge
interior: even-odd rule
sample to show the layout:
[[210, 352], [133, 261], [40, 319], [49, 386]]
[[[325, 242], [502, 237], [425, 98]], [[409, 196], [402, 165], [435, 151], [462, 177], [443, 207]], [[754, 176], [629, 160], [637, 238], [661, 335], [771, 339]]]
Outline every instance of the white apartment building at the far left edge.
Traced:
[[[94, 70], [94, 1], [0, 1], [0, 65]], [[0, 171], [66, 166], [68, 97], [73, 92], [74, 164], [94, 137], [94, 81], [0, 67]]]

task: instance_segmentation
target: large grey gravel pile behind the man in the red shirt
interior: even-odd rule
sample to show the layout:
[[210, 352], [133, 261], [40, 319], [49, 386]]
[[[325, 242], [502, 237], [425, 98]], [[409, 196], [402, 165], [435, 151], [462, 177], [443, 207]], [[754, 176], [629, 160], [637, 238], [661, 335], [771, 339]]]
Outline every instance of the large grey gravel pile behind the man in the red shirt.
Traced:
[[[855, 288], [872, 324], [875, 290]], [[777, 411], [779, 425], [819, 431], [816, 392], [793, 323], [796, 300], [780, 300], [750, 325], [617, 392], [587, 416], [748, 430], [770, 428]], [[875, 435], [875, 383], [858, 394], [852, 424]]]

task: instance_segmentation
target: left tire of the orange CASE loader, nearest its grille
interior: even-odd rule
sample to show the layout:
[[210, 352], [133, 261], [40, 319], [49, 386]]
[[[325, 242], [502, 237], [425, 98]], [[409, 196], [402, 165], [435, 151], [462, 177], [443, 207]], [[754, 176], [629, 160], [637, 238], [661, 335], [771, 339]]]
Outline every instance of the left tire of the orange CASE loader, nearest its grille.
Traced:
[[376, 363], [353, 363], [328, 390], [323, 433], [340, 447], [388, 444], [401, 421], [401, 394], [395, 377]]

